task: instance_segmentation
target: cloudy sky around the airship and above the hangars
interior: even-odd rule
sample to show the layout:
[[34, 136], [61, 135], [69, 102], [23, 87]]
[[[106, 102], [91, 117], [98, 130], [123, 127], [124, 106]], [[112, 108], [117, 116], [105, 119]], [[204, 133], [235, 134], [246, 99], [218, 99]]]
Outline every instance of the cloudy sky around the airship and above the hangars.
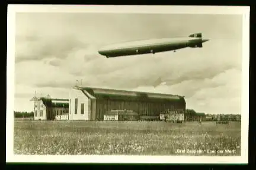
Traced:
[[[15, 111], [72, 86], [185, 96], [187, 109], [241, 114], [242, 15], [17, 13]], [[201, 32], [203, 48], [105, 58], [104, 45]], [[161, 77], [159, 86], [153, 87]]]

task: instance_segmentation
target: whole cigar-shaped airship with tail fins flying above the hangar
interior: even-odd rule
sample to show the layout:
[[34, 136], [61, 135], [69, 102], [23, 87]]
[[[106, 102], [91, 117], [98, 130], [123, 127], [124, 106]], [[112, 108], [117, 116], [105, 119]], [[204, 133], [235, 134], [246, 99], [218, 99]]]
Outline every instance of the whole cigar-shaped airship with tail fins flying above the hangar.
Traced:
[[159, 38], [151, 40], [139, 40], [122, 42], [119, 44], [107, 45], [98, 53], [107, 58], [121, 57], [126, 55], [139, 55], [139, 54], [155, 54], [164, 51], [174, 51], [181, 48], [202, 48], [203, 42], [209, 41], [203, 39], [201, 33], [194, 33], [188, 37], [180, 38]]

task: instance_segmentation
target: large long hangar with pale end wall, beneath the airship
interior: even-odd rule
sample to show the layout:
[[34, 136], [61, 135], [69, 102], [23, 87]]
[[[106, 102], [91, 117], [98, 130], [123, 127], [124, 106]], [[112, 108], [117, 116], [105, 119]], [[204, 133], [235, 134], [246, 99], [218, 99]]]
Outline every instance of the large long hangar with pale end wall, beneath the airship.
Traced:
[[183, 96], [75, 86], [69, 93], [69, 120], [104, 120], [111, 110], [130, 110], [143, 119], [164, 110], [185, 112]]

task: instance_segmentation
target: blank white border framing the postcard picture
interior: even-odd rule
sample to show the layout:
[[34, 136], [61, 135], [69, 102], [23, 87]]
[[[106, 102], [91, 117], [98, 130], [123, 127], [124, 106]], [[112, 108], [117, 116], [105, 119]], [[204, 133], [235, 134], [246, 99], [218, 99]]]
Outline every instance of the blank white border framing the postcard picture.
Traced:
[[[110, 12], [150, 14], [243, 15], [241, 156], [62, 156], [14, 155], [14, 64], [16, 12]], [[132, 5], [8, 5], [7, 21], [7, 135], [6, 162], [241, 164], [248, 162], [249, 125], [249, 6], [132, 6]]]

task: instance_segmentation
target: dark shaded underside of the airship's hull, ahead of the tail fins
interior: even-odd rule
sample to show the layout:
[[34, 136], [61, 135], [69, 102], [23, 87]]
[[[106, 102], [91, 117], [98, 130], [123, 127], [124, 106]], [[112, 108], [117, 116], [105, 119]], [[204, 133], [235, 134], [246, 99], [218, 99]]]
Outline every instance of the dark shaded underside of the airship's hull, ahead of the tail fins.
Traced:
[[131, 47], [131, 48], [121, 48], [117, 50], [104, 51], [106, 57], [119, 57], [126, 55], [137, 55], [137, 54], [149, 54], [149, 53], [159, 53], [164, 51], [177, 50], [180, 48], [188, 47], [187, 42], [171, 43], [171, 44], [161, 44], [161, 45], [147, 45], [143, 47]]

